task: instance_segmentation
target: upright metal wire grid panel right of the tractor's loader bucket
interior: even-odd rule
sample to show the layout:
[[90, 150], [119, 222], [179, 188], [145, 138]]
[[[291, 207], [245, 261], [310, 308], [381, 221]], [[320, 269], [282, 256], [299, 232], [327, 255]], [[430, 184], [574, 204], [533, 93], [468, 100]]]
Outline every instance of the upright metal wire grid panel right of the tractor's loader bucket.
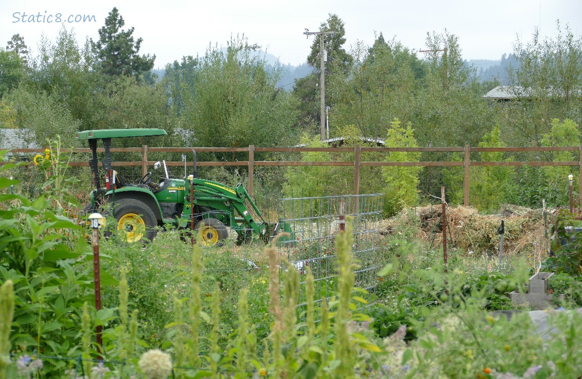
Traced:
[[279, 244], [282, 255], [299, 270], [301, 285], [298, 308], [307, 305], [304, 286], [307, 267], [315, 281], [315, 303], [331, 299], [338, 290], [339, 267], [335, 237], [345, 225], [345, 216], [352, 216], [352, 253], [357, 264], [355, 287], [368, 291], [359, 294], [374, 302], [377, 285], [379, 239], [383, 194], [285, 198], [279, 201], [282, 223], [289, 223], [294, 238]]

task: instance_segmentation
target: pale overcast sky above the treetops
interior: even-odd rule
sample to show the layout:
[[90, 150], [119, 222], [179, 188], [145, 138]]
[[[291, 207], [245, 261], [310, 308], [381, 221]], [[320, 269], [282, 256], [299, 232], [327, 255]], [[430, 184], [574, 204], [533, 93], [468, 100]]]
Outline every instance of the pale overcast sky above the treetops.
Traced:
[[[114, 6], [125, 27], [135, 27], [134, 37], [143, 38], [140, 53], [157, 56], [155, 67], [185, 55], [203, 55], [210, 44], [225, 45], [236, 34], [244, 34], [282, 63], [299, 65], [314, 38], [307, 40], [304, 29], [319, 30], [328, 13], [345, 22], [348, 51], [358, 40], [371, 45], [380, 32], [386, 40], [396, 37], [410, 49], [423, 49], [428, 31], [446, 28], [459, 37], [464, 59], [499, 59], [512, 52], [516, 35], [528, 40], [535, 27], [542, 35], [553, 35], [558, 19], [577, 37], [582, 33], [581, 0], [2, 0], [0, 47], [19, 33], [35, 53], [41, 34], [54, 41], [63, 24], [73, 27], [81, 44], [86, 37], [96, 40]], [[65, 22], [56, 22], [58, 14]], [[83, 22], [83, 15], [90, 19]]]

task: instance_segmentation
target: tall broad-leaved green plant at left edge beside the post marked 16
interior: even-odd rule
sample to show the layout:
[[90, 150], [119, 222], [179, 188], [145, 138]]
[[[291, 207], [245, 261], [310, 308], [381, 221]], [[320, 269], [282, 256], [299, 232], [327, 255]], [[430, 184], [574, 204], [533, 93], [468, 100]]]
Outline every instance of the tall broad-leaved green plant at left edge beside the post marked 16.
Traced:
[[[14, 183], [0, 178], [0, 190]], [[87, 245], [78, 239], [81, 228], [50, 203], [44, 196], [31, 202], [0, 194], [0, 282], [14, 284], [11, 344], [61, 356], [76, 350], [80, 307], [92, 302], [93, 291]], [[65, 364], [51, 362], [47, 375]]]

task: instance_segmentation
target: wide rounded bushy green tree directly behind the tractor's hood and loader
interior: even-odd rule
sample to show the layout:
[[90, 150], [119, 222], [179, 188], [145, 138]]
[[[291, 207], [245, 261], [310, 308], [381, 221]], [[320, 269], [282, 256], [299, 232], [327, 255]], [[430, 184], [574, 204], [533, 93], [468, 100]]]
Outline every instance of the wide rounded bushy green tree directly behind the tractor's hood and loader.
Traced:
[[[278, 146], [290, 142], [297, 113], [293, 99], [275, 88], [277, 71], [253, 55], [246, 38], [233, 38], [225, 49], [208, 49], [196, 65], [178, 70], [177, 102], [184, 144], [191, 146]], [[188, 80], [190, 77], [196, 80]], [[236, 158], [233, 153], [229, 158]], [[220, 159], [216, 156], [214, 159]]]

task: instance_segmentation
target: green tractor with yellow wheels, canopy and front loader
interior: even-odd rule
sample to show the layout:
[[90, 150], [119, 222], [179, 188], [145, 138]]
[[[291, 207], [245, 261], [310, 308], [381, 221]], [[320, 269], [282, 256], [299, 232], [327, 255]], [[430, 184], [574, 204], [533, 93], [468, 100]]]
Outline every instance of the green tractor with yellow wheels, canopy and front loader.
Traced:
[[[131, 138], [167, 134], [163, 129], [109, 129], [86, 130], [76, 133], [77, 140], [87, 140], [93, 158], [89, 160], [94, 189], [91, 203], [82, 213], [101, 210], [115, 217], [117, 230], [122, 232], [127, 242], [151, 241], [158, 227], [198, 230], [202, 228], [202, 243], [216, 245], [228, 238], [230, 227], [237, 234], [237, 244], [249, 241], [257, 235], [268, 242], [272, 236], [292, 233], [288, 223], [269, 224], [261, 216], [260, 210], [242, 184], [235, 188], [196, 176], [196, 151], [193, 154], [193, 173], [184, 178], [170, 178], [164, 161], [165, 177], [159, 182], [152, 181], [149, 171], [137, 183], [126, 183], [122, 176], [111, 168], [111, 139]], [[101, 187], [98, 172], [97, 140], [102, 140], [105, 159], [105, 188]], [[161, 167], [156, 162], [154, 169]], [[111, 213], [109, 213], [111, 212]], [[282, 237], [285, 238], [285, 237]], [[292, 241], [293, 236], [287, 241]], [[281, 241], [281, 240], [280, 240]]]

